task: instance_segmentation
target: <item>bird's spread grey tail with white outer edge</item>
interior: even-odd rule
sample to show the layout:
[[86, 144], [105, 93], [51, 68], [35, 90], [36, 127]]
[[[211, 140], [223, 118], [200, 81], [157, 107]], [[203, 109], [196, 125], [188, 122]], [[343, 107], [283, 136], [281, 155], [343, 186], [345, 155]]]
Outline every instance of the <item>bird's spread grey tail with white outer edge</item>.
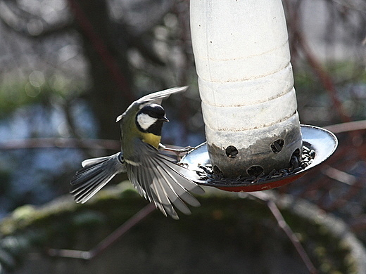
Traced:
[[86, 159], [82, 162], [82, 169], [72, 177], [70, 193], [75, 202], [87, 202], [111, 181], [115, 174], [125, 171], [125, 161], [121, 152], [107, 157]]

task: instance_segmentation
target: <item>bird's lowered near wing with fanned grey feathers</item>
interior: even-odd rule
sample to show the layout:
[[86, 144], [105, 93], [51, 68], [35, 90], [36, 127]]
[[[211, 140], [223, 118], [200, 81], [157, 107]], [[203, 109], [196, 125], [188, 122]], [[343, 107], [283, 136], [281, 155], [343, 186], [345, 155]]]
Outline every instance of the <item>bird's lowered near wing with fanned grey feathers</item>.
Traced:
[[126, 159], [127, 175], [139, 194], [153, 202], [165, 216], [178, 219], [173, 205], [184, 214], [191, 214], [187, 207], [199, 207], [194, 194], [203, 194], [203, 189], [193, 180], [198, 176], [160, 154], [156, 148], [136, 139], [134, 155]]

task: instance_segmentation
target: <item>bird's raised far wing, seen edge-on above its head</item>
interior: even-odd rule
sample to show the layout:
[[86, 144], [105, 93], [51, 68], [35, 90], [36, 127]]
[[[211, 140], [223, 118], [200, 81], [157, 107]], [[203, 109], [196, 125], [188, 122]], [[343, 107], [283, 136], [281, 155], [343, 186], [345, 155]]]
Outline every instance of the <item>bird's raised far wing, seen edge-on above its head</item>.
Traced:
[[188, 86], [177, 86], [175, 88], [165, 89], [164, 91], [156, 91], [154, 93], [150, 93], [144, 97], [141, 97], [138, 100], [135, 100], [134, 103], [132, 103], [129, 107], [127, 107], [127, 110], [123, 112], [122, 115], [118, 116], [115, 122], [120, 122], [120, 119], [122, 119], [125, 114], [136, 105], [139, 105], [140, 108], [148, 103], [156, 103], [160, 105], [163, 99], [168, 98], [170, 94], [186, 91], [187, 89]]

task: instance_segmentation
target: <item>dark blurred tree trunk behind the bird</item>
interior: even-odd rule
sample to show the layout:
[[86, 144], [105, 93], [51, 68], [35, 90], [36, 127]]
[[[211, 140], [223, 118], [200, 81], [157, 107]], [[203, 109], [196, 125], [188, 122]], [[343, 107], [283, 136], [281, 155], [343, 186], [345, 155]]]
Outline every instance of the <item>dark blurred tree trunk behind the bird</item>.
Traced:
[[99, 138], [118, 139], [115, 118], [134, 99], [125, 37], [120, 36], [121, 30], [117, 34], [106, 1], [69, 0], [68, 4], [89, 61], [92, 89], [88, 98], [98, 122]]

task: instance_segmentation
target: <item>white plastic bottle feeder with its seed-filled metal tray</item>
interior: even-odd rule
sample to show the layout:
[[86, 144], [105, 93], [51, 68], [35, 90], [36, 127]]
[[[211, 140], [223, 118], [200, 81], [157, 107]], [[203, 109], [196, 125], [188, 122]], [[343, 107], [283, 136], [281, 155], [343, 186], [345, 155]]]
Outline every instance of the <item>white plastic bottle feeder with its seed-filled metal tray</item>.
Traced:
[[298, 119], [282, 1], [191, 0], [190, 15], [207, 142], [181, 162], [201, 184], [277, 188], [330, 157], [336, 137]]

